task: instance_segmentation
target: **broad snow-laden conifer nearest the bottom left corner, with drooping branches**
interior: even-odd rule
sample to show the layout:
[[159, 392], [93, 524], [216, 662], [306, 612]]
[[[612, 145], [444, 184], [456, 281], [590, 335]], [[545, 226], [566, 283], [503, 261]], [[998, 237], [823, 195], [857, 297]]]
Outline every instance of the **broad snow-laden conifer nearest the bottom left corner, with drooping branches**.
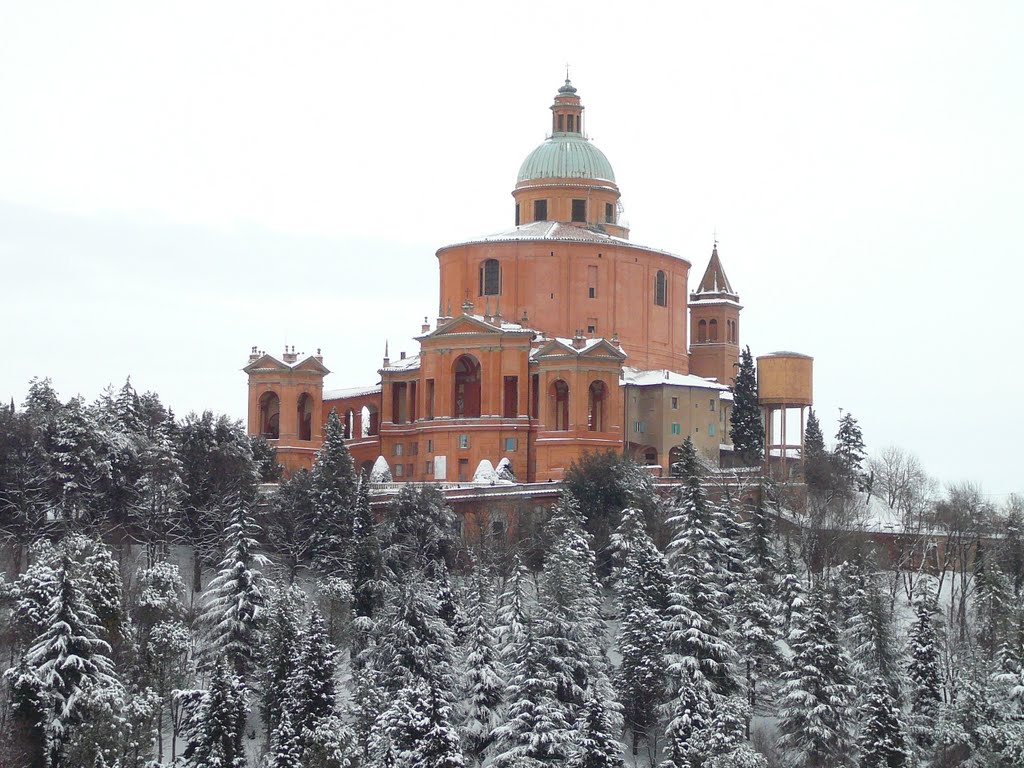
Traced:
[[65, 745], [84, 722], [89, 696], [100, 689], [121, 690], [111, 646], [99, 638], [99, 621], [74, 571], [71, 555], [63, 552], [54, 572], [47, 628], [25, 656], [39, 680], [36, 690], [45, 707], [43, 728], [51, 768], [62, 765]]

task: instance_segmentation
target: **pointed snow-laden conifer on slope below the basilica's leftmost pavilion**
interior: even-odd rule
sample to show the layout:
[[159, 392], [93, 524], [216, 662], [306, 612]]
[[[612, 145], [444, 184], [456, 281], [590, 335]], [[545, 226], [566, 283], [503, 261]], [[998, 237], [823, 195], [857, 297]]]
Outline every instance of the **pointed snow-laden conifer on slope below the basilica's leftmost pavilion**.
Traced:
[[265, 586], [260, 566], [267, 561], [259, 546], [245, 504], [236, 507], [224, 537], [227, 541], [217, 575], [210, 582], [200, 624], [206, 658], [225, 658], [234, 675], [246, 681], [253, 673], [260, 626], [265, 611]]

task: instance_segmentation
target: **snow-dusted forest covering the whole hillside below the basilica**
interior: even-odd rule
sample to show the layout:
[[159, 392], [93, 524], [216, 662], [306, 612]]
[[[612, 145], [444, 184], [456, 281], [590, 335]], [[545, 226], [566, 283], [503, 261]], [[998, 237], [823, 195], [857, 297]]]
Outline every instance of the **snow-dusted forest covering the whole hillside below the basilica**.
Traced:
[[[430, 485], [372, 507], [336, 415], [261, 495], [241, 424], [34, 381], [0, 409], [0, 768], [1024, 765], [1019, 500], [852, 417], [809, 425], [799, 524], [681, 457], [658, 490], [588, 456], [467, 540]], [[865, 495], [914, 535], [887, 567]]]

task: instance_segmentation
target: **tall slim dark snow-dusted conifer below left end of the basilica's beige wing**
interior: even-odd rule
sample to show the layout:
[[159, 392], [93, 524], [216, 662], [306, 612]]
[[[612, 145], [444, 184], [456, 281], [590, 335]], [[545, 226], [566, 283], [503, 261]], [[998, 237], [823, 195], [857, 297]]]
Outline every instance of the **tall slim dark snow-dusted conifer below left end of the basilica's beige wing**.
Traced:
[[641, 739], [655, 740], [652, 731], [665, 700], [663, 617], [669, 601], [668, 565], [647, 536], [641, 510], [624, 510], [613, 540], [620, 543], [622, 558], [615, 584], [622, 663], [614, 684], [636, 756]]

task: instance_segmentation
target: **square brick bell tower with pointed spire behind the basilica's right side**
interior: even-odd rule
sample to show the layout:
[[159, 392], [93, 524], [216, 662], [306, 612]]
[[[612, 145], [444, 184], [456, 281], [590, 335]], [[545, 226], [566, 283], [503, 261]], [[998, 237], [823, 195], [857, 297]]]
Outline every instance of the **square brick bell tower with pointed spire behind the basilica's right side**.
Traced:
[[739, 361], [739, 294], [732, 290], [718, 243], [696, 291], [690, 294], [690, 373], [732, 384]]

